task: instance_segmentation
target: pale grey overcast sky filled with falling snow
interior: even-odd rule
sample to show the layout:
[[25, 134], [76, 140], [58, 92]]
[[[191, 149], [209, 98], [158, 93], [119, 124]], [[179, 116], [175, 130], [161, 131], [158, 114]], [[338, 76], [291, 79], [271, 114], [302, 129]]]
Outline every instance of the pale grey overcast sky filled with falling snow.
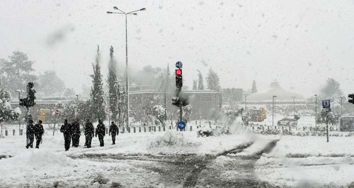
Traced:
[[68, 88], [91, 85], [97, 45], [107, 78], [109, 47], [125, 64], [128, 17], [131, 71], [183, 63], [191, 87], [213, 68], [222, 88], [258, 91], [272, 80], [308, 97], [326, 78], [353, 93], [354, 0], [0, 0], [0, 58], [13, 50], [35, 61], [36, 74], [56, 70]]

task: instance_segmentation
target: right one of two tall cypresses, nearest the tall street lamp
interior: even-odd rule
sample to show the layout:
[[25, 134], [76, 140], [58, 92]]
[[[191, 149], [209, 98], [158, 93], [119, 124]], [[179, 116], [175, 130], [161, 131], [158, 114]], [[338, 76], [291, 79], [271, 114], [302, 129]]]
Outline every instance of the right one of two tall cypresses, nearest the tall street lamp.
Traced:
[[117, 61], [114, 56], [114, 49], [110, 48], [110, 62], [108, 63], [108, 89], [109, 89], [109, 106], [112, 110], [112, 117], [117, 120], [119, 106], [118, 106], [118, 94], [119, 94], [119, 83], [117, 76]]

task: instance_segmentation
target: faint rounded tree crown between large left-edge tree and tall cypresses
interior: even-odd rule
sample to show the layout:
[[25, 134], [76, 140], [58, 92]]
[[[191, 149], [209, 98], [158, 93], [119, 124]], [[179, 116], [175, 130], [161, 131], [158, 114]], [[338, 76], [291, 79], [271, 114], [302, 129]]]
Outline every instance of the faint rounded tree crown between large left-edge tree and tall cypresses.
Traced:
[[43, 93], [45, 96], [53, 96], [56, 93], [62, 94], [65, 89], [64, 81], [58, 76], [56, 71], [45, 71], [38, 77], [38, 93]]

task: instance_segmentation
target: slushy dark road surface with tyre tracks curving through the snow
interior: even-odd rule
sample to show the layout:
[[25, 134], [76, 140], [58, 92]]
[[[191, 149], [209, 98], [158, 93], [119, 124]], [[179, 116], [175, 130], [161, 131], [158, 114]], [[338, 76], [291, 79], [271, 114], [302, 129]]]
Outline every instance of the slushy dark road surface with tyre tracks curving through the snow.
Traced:
[[[182, 188], [271, 188], [253, 173], [254, 164], [263, 152], [269, 152], [277, 140], [265, 141], [255, 153], [247, 149], [257, 143], [245, 143], [219, 155], [107, 155], [83, 154], [79, 158], [128, 163], [159, 175], [158, 185]], [[264, 143], [264, 141], [263, 141]], [[237, 155], [243, 153], [242, 155]], [[76, 158], [76, 157], [75, 157]], [[113, 159], [113, 160], [112, 160]], [[149, 181], [149, 180], [145, 180]]]

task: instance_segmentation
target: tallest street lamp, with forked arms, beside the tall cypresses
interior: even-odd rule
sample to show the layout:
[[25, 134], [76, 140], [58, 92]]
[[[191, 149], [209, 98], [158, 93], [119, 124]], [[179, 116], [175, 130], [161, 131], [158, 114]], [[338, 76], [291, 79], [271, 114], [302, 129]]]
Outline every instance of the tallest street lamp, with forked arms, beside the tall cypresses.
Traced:
[[120, 10], [117, 6], [114, 6], [113, 9], [119, 10], [120, 12], [111, 12], [107, 11], [107, 14], [124, 14], [125, 15], [125, 81], [126, 81], [126, 125], [129, 126], [129, 77], [128, 77], [128, 36], [127, 36], [127, 23], [126, 23], [126, 16], [128, 14], [137, 15], [137, 11], [146, 10], [146, 8], [141, 8], [139, 10], [134, 10], [131, 12], [124, 12]]

